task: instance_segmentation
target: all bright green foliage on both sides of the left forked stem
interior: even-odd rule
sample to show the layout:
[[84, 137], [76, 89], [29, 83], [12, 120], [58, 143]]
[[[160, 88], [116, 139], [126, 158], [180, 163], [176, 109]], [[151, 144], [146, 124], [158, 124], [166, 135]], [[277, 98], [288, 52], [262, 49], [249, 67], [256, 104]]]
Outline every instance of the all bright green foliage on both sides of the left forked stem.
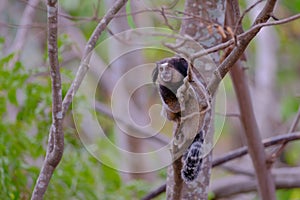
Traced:
[[[9, 69], [13, 54], [0, 60], [0, 199], [29, 199], [46, 152], [51, 125], [51, 85], [48, 76], [37, 76], [22, 63]], [[72, 79], [70, 71], [62, 76]], [[68, 84], [63, 84], [63, 93]], [[84, 99], [80, 99], [84, 101]], [[12, 111], [15, 113], [12, 114]], [[106, 119], [110, 139], [112, 123]], [[149, 184], [124, 184], [119, 172], [102, 165], [83, 148], [76, 131], [65, 128], [65, 151], [50, 181], [45, 199], [140, 199]], [[116, 152], [105, 146], [106, 162]]]

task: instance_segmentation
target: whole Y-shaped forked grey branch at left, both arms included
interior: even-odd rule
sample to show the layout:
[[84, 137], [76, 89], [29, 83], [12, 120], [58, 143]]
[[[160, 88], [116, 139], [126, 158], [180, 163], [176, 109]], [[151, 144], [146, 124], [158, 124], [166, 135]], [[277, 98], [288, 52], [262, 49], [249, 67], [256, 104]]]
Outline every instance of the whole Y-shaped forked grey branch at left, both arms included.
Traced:
[[48, 0], [48, 52], [51, 67], [52, 80], [52, 126], [49, 133], [49, 141], [46, 159], [33, 190], [32, 200], [41, 200], [47, 190], [52, 174], [61, 160], [64, 148], [64, 135], [62, 131], [62, 119], [64, 118], [72, 100], [77, 92], [87, 70], [91, 58], [91, 52], [95, 48], [100, 34], [105, 30], [114, 15], [121, 9], [127, 0], [118, 0], [105, 14], [91, 35], [83, 54], [81, 64], [76, 77], [62, 101], [61, 79], [57, 55], [57, 0]]

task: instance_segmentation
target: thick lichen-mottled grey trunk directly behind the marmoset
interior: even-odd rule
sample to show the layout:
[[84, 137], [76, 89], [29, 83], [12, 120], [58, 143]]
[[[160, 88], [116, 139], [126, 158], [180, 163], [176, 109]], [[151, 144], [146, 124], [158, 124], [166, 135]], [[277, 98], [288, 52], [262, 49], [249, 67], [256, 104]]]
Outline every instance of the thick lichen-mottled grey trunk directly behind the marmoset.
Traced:
[[[221, 34], [217, 31], [216, 24], [223, 26], [225, 17], [225, 1], [224, 0], [186, 0], [184, 13], [188, 15], [188, 19], [182, 21], [180, 34], [189, 35], [204, 48], [209, 48], [219, 44], [222, 41]], [[192, 46], [187, 46], [189, 52], [196, 52]], [[198, 49], [199, 50], [199, 49]], [[193, 52], [191, 52], [193, 53]], [[217, 64], [219, 62], [218, 53], [211, 55], [212, 60]], [[203, 62], [201, 59], [195, 59], [194, 67], [208, 82], [214, 70], [211, 62]], [[200, 77], [198, 77], [200, 79]], [[212, 106], [212, 113], [214, 106]], [[213, 118], [213, 117], [212, 117]], [[206, 143], [213, 144], [213, 120], [211, 120], [210, 129], [206, 136]], [[186, 184], [178, 181], [180, 178], [181, 158], [175, 161], [175, 164], [168, 168], [167, 178], [167, 199], [207, 199], [208, 186], [211, 174], [212, 154], [209, 152], [203, 159], [202, 169], [194, 182]], [[174, 166], [176, 166], [174, 168]], [[176, 169], [179, 168], [179, 169]], [[177, 185], [176, 185], [176, 184]], [[180, 190], [180, 191], [178, 191]]]

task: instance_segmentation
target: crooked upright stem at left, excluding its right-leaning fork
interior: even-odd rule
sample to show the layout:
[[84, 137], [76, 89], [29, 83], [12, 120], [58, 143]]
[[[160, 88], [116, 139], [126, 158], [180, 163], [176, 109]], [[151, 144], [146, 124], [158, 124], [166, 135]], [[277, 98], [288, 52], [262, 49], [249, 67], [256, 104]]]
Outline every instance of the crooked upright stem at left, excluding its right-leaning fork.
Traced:
[[60, 162], [64, 150], [64, 134], [62, 130], [62, 90], [58, 64], [57, 47], [57, 1], [48, 0], [48, 54], [52, 85], [52, 126], [49, 144], [42, 170], [33, 190], [32, 200], [43, 199], [51, 176]]

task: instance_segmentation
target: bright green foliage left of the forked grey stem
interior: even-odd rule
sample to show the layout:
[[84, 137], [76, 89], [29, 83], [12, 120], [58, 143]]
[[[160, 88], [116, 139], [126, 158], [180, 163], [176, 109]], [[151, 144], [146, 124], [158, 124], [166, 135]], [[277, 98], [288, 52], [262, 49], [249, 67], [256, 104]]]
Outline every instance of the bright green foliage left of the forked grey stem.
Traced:
[[32, 177], [38, 173], [28, 160], [45, 153], [43, 134], [51, 120], [47, 111], [51, 95], [47, 82], [29, 81], [32, 74], [21, 63], [8, 69], [12, 57], [0, 60], [0, 199], [28, 199]]

